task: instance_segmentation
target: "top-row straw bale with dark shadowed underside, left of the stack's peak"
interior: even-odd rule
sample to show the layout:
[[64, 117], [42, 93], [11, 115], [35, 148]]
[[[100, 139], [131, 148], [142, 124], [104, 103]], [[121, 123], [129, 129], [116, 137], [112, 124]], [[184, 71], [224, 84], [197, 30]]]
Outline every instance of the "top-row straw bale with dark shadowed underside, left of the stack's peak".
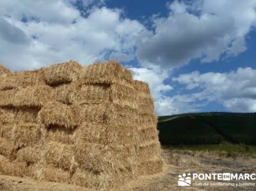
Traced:
[[45, 83], [49, 86], [56, 86], [77, 80], [82, 66], [76, 61], [58, 63], [44, 68]]

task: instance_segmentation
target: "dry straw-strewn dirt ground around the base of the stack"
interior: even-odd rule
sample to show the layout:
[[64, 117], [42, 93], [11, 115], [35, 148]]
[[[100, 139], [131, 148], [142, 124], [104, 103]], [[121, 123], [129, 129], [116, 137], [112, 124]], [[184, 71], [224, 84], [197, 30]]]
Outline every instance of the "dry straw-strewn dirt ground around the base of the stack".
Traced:
[[[119, 190], [156, 191], [156, 190], [256, 190], [256, 186], [237, 185], [231, 183], [256, 183], [256, 181], [201, 181], [192, 180], [190, 187], [178, 187], [179, 174], [185, 173], [255, 173], [256, 158], [252, 155], [232, 155], [220, 151], [184, 151], [162, 149], [164, 171], [153, 176], [143, 176], [140, 179], [124, 185]], [[229, 185], [212, 186], [212, 183], [230, 183]], [[202, 183], [202, 185], [198, 185]], [[204, 186], [204, 183], [209, 186]], [[197, 185], [195, 185], [197, 184]], [[86, 190], [74, 185], [63, 183], [38, 183], [35, 180], [0, 176], [0, 190]]]

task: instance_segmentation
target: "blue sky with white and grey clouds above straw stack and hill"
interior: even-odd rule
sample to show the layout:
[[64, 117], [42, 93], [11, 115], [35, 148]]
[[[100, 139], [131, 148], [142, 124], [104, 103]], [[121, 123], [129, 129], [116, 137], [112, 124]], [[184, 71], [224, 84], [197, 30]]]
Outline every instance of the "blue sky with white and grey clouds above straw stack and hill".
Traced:
[[256, 112], [255, 10], [256, 0], [3, 0], [0, 62], [117, 60], [148, 82], [157, 114]]

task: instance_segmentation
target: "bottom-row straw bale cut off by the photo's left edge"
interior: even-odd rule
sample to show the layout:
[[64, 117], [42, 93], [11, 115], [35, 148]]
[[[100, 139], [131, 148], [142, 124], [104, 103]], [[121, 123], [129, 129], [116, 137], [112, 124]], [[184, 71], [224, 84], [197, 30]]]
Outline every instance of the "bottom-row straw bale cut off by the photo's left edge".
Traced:
[[11, 161], [0, 155], [0, 174], [23, 177], [26, 173], [26, 163]]

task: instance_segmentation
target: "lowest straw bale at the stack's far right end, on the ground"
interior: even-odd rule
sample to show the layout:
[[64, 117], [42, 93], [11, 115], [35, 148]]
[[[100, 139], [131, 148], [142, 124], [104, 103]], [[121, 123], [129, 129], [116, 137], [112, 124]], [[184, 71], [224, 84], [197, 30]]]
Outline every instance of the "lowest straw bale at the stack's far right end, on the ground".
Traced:
[[138, 171], [141, 175], [156, 174], [158, 172], [161, 172], [163, 171], [163, 160], [161, 160], [161, 158], [159, 157], [156, 157], [141, 162], [138, 165]]

